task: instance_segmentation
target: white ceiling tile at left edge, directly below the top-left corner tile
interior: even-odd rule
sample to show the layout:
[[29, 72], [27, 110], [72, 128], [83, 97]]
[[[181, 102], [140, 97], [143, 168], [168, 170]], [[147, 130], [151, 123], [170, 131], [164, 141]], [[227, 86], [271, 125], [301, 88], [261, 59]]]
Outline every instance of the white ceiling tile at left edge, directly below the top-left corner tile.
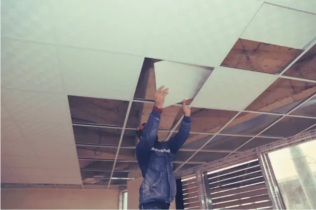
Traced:
[[1, 41], [2, 87], [62, 92], [56, 46], [11, 39]]

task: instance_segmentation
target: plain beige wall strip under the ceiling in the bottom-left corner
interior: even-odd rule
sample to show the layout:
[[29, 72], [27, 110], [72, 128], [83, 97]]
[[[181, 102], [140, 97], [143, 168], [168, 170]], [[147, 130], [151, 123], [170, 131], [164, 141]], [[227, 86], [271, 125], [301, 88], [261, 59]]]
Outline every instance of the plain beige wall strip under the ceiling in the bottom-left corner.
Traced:
[[1, 209], [118, 209], [118, 190], [1, 189]]

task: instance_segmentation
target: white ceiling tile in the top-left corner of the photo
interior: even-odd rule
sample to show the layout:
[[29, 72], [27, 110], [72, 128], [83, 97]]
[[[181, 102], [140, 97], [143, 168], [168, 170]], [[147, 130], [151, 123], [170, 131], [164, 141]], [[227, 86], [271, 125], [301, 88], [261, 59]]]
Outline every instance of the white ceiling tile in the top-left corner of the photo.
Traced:
[[50, 0], [2, 0], [1, 36], [55, 42]]

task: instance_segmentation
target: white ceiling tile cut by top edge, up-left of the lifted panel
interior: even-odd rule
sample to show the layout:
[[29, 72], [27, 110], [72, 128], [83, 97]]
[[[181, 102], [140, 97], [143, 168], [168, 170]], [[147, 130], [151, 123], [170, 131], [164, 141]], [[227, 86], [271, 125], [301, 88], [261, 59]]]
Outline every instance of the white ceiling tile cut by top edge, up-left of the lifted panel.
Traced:
[[64, 45], [142, 55], [148, 6], [146, 1], [54, 0], [57, 40]]

